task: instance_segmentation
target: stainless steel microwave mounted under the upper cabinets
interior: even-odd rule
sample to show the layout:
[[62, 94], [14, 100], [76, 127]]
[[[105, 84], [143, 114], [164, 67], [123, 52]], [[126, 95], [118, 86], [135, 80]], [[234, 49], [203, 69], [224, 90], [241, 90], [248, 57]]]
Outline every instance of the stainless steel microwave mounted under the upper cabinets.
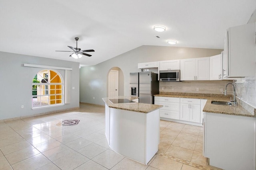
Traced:
[[180, 70], [161, 70], [160, 81], [162, 82], [179, 82]]

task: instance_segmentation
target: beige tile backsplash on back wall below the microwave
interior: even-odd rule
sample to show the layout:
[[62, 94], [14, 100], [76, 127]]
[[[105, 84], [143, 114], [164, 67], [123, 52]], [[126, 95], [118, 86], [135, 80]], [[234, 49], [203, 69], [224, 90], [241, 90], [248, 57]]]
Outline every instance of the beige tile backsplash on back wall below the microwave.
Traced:
[[[159, 91], [224, 95], [225, 86], [229, 82], [233, 83], [234, 80], [160, 82]], [[228, 94], [233, 94], [232, 86], [228, 86], [227, 92]]]

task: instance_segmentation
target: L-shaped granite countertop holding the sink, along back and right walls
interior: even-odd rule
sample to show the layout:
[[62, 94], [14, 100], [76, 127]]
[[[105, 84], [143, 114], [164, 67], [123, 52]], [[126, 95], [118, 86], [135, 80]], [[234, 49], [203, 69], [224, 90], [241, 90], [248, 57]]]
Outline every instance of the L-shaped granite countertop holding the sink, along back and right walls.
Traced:
[[225, 101], [230, 102], [230, 96], [224, 96], [224, 94], [201, 94], [201, 93], [168, 93], [164, 92], [161, 94], [156, 94], [154, 96], [159, 97], [173, 97], [173, 98], [196, 98], [196, 99], [206, 99], [207, 102], [204, 106], [204, 112], [210, 113], [220, 113], [220, 114], [228, 114], [228, 115], [238, 115], [238, 116], [246, 116], [246, 117], [256, 117], [255, 114], [250, 113], [240, 104], [237, 106], [225, 106], [225, 105], [214, 105], [211, 104], [213, 100], [215, 101]]

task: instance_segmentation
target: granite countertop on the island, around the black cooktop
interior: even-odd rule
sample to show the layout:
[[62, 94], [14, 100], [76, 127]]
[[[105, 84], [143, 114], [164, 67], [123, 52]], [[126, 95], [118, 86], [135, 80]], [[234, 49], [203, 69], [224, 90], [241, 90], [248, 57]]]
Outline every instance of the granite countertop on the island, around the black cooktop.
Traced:
[[[136, 98], [134, 97], [128, 97], [128, 96], [118, 96], [117, 98], [111, 98], [111, 99], [130, 99], [134, 100]], [[128, 110], [128, 111], [135, 111], [139, 113], [150, 113], [156, 109], [160, 109], [163, 107], [162, 105], [156, 105], [156, 104], [144, 104], [144, 103], [112, 103], [108, 98], [102, 98], [102, 100], [108, 105], [108, 107], [114, 108], [114, 109], [122, 109], [122, 110]]]

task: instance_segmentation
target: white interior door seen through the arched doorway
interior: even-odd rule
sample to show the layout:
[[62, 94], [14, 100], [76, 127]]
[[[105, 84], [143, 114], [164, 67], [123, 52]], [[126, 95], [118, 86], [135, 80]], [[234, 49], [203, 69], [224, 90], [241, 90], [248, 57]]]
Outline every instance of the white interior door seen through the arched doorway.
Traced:
[[110, 70], [108, 74], [108, 97], [118, 96], [118, 70]]

